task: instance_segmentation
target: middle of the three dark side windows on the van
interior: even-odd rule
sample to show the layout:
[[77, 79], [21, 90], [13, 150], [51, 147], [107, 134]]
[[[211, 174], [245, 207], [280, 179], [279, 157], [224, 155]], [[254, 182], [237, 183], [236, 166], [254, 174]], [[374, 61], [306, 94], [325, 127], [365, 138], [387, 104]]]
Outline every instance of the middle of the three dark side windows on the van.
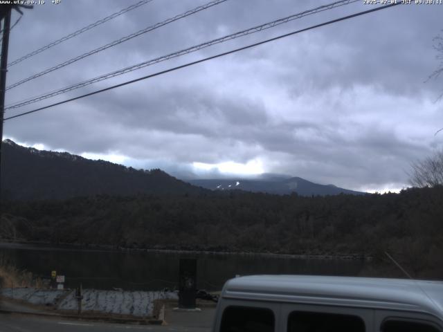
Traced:
[[361, 317], [335, 313], [293, 311], [288, 317], [288, 332], [365, 332]]

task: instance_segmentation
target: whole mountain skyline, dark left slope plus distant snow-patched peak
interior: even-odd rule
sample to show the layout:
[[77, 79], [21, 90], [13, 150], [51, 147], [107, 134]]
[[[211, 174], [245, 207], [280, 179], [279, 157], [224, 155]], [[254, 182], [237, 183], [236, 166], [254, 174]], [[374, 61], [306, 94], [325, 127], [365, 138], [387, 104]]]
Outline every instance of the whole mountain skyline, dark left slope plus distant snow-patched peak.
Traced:
[[364, 194], [282, 174], [262, 174], [257, 179], [181, 180], [161, 169], [134, 169], [66, 151], [23, 147], [12, 140], [3, 141], [1, 167], [1, 194], [3, 199], [12, 200], [69, 199], [100, 194], [209, 194], [233, 189], [280, 195], [296, 192], [301, 196]]

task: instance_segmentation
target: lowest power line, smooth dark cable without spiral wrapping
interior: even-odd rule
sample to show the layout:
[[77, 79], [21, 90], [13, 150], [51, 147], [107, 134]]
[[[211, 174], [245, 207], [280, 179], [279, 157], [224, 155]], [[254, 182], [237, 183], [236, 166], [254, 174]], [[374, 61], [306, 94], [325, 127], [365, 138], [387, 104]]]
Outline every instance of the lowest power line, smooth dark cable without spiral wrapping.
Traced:
[[50, 104], [50, 105], [47, 105], [45, 107], [40, 107], [38, 109], [33, 109], [32, 111], [27, 111], [27, 112], [24, 112], [24, 113], [19, 113], [19, 114], [15, 115], [15, 116], [10, 116], [8, 118], [5, 118], [5, 120], [10, 120], [10, 119], [13, 119], [13, 118], [19, 118], [20, 116], [26, 116], [26, 115], [28, 115], [30, 113], [35, 113], [37, 111], [42, 111], [42, 110], [48, 109], [50, 107], [55, 107], [55, 106], [58, 106], [58, 105], [61, 105], [61, 104], [66, 104], [66, 102], [72, 102], [73, 100], [79, 100], [79, 99], [82, 99], [82, 98], [85, 98], [85, 97], [89, 97], [90, 95], [96, 95], [97, 93], [102, 93], [102, 92], [105, 92], [105, 91], [109, 91], [111, 89], [116, 89], [116, 88], [118, 88], [120, 86], [125, 86], [127, 84], [132, 84], [132, 83], [135, 83], [135, 82], [138, 82], [138, 81], [141, 81], [141, 80], [147, 80], [148, 78], [151, 78], [151, 77], [163, 75], [165, 73], [170, 73], [171, 71], [177, 71], [178, 69], [181, 69], [181, 68], [186, 68], [188, 66], [199, 64], [201, 62], [206, 62], [208, 60], [216, 59], [217, 57], [223, 57], [225, 55], [236, 53], [236, 52], [239, 52], [240, 50], [246, 50], [248, 48], [253, 48], [255, 46], [259, 46], [259, 45], [262, 45], [262, 44], [273, 42], [275, 40], [282, 39], [284, 37], [289, 37], [291, 35], [296, 35], [298, 33], [302, 33], [302, 32], [305, 32], [307, 30], [312, 30], [312, 29], [315, 29], [315, 28], [320, 28], [321, 26], [327, 26], [329, 24], [334, 24], [334, 23], [337, 23], [339, 21], [344, 21], [346, 19], [352, 19], [353, 17], [358, 17], [358, 16], [361, 16], [361, 15], [369, 14], [370, 12], [376, 12], [378, 10], [383, 10], [383, 9], [386, 9], [386, 8], [390, 8], [390, 7], [393, 7], [393, 6], [397, 6], [399, 4], [400, 4], [400, 2], [399, 3], [392, 3], [392, 4], [386, 5], [386, 6], [380, 6], [380, 7], [377, 7], [377, 8], [370, 9], [370, 10], [364, 10], [362, 12], [356, 12], [355, 14], [347, 15], [347, 16], [341, 17], [339, 19], [333, 19], [332, 21], [327, 21], [327, 22], [324, 22], [324, 23], [321, 23], [321, 24], [316, 24], [315, 26], [309, 26], [309, 28], [304, 28], [304, 29], [301, 29], [301, 30], [296, 30], [296, 31], [293, 31], [291, 33], [286, 33], [284, 35], [280, 35], [280, 36], [277, 36], [277, 37], [266, 39], [266, 40], [264, 40], [262, 42], [257, 42], [257, 43], [249, 44], [247, 46], [243, 46], [243, 47], [240, 47], [240, 48], [235, 48], [233, 50], [229, 50], [229, 51], [224, 52], [224, 53], [219, 53], [217, 55], [213, 55], [213, 56], [210, 56], [210, 57], [205, 57], [204, 59], [199, 59], [199, 60], [194, 61], [194, 62], [188, 62], [187, 64], [182, 64], [181, 66], [176, 66], [176, 67], [173, 67], [173, 68], [169, 68], [169, 69], [166, 69], [165, 71], [159, 71], [159, 72], [151, 74], [151, 75], [146, 75], [146, 76], [143, 76], [143, 77], [136, 78], [135, 80], [130, 80], [130, 81], [127, 81], [127, 82], [116, 84], [114, 86], [109, 86], [109, 87], [107, 87], [105, 89], [100, 89], [100, 90], [97, 90], [97, 91], [93, 91], [91, 93], [86, 93], [84, 95], [79, 95], [78, 97], [74, 97], [74, 98], [70, 98], [70, 99], [67, 99], [67, 100], [63, 100], [62, 102], [55, 102], [54, 104]]

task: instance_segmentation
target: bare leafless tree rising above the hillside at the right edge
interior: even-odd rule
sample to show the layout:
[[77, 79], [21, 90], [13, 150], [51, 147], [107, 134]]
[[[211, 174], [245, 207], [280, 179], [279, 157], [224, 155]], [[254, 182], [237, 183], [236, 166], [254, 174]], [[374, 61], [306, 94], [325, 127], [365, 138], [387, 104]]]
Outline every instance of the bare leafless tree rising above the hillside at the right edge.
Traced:
[[414, 187], [443, 185], [443, 150], [433, 156], [412, 164], [409, 182]]

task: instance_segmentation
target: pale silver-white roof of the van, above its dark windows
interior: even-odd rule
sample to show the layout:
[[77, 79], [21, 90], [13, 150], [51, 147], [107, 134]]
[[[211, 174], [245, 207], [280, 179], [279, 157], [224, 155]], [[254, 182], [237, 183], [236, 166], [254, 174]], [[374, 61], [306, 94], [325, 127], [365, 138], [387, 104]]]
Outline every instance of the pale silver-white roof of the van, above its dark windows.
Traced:
[[251, 275], [226, 282], [221, 297], [430, 313], [443, 320], [443, 282], [314, 275]]

